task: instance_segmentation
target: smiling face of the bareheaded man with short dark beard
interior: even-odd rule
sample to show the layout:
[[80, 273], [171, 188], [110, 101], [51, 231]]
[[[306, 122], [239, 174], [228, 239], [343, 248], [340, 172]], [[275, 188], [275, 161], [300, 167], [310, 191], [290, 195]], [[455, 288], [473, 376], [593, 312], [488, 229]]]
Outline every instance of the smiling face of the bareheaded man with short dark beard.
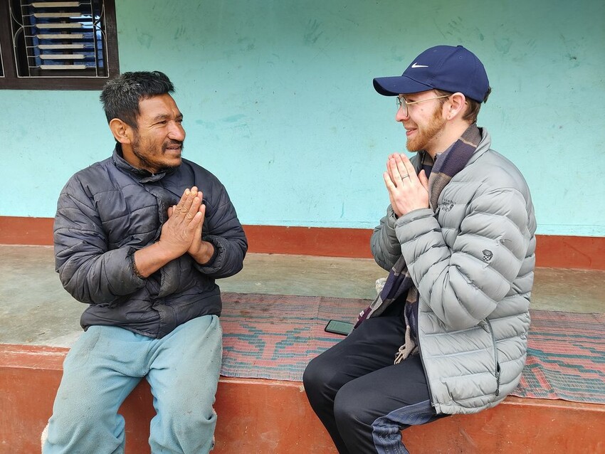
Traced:
[[[127, 142], [122, 142], [124, 159], [152, 174], [181, 165], [185, 139], [183, 115], [168, 94], [139, 102], [137, 129], [128, 127]], [[121, 142], [121, 141], [120, 141]]]

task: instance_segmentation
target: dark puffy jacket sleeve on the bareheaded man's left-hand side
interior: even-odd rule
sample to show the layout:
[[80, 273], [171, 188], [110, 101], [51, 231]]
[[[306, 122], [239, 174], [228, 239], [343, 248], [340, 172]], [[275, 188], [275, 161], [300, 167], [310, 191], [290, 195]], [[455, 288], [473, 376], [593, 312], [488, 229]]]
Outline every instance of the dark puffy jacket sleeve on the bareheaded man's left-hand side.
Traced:
[[56, 271], [76, 300], [111, 304], [144, 286], [132, 270], [130, 257], [135, 251], [108, 250], [93, 197], [78, 179], [71, 179], [61, 191], [53, 239]]

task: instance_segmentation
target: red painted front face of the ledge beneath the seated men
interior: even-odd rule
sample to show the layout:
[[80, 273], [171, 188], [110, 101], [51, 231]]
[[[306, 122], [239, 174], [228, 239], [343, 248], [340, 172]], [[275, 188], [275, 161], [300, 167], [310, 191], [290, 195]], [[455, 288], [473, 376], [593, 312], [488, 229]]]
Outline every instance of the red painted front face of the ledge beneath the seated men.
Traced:
[[[0, 344], [0, 453], [39, 453], [67, 349]], [[213, 454], [335, 454], [299, 382], [221, 378]], [[147, 381], [120, 408], [126, 454], [149, 453]], [[605, 406], [509, 397], [403, 432], [411, 453], [605, 453]]]

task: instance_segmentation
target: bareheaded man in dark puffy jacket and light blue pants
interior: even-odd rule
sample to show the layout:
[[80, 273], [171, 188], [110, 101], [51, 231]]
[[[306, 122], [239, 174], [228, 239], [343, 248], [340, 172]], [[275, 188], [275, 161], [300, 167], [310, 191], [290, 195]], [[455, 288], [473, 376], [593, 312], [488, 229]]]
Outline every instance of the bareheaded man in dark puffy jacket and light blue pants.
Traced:
[[56, 270], [88, 304], [65, 358], [44, 453], [118, 453], [117, 409], [145, 377], [154, 453], [208, 453], [221, 366], [221, 293], [248, 248], [228, 194], [181, 158], [183, 115], [157, 71], [124, 73], [100, 99], [112, 157], [78, 171], [58, 201]]

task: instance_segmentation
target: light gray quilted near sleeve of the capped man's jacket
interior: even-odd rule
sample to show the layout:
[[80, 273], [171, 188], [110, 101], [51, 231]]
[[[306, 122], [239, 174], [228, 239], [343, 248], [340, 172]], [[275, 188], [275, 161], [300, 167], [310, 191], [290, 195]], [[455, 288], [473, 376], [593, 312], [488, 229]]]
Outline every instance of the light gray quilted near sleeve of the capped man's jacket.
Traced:
[[466, 207], [452, 248], [430, 208], [396, 221], [414, 284], [451, 329], [475, 326], [510, 291], [530, 243], [526, 205], [516, 189], [480, 194]]

